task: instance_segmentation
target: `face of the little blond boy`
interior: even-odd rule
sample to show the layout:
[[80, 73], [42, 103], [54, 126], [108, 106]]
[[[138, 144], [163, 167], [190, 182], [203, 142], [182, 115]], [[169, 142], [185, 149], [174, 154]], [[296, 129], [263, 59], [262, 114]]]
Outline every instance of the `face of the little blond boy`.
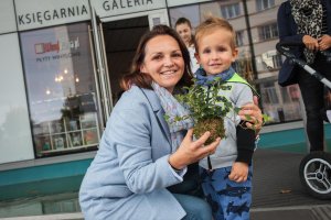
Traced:
[[202, 35], [197, 43], [197, 62], [207, 75], [220, 74], [231, 67], [236, 59], [238, 51], [231, 46], [232, 33], [224, 29], [217, 29], [206, 35]]

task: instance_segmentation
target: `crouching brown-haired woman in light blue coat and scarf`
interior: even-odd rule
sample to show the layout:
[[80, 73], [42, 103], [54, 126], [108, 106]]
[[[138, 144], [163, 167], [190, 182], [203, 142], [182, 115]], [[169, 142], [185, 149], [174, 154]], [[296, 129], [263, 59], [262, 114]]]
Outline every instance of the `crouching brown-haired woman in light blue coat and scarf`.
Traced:
[[[220, 143], [217, 139], [204, 146], [209, 132], [196, 141], [192, 130], [184, 136], [190, 120], [166, 122], [164, 113], [185, 113], [171, 94], [190, 84], [185, 45], [172, 29], [154, 26], [140, 41], [131, 73], [121, 81], [127, 91], [111, 112], [82, 183], [85, 219], [212, 219], [203, 199], [167, 189], [182, 182], [189, 164], [213, 154]], [[242, 114], [261, 120], [255, 105]]]

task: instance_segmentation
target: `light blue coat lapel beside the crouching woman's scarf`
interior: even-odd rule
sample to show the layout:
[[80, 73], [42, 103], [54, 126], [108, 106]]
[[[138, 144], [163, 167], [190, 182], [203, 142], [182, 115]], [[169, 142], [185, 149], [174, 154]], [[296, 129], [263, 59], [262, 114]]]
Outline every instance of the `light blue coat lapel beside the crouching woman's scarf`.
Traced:
[[170, 130], [164, 119], [164, 111], [161, 107], [160, 100], [157, 97], [156, 92], [150, 89], [141, 89], [142, 94], [146, 96], [147, 100], [149, 101], [154, 116], [157, 118], [157, 121], [159, 123], [159, 127], [161, 128], [163, 134], [166, 135], [170, 146], [171, 146], [171, 138], [170, 138]]

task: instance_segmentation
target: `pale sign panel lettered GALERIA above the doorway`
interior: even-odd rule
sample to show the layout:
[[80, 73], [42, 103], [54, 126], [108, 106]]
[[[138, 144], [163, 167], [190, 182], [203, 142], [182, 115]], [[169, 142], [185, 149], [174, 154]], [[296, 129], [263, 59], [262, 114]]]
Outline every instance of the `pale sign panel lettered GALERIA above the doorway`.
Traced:
[[100, 18], [166, 8], [166, 0], [92, 0]]

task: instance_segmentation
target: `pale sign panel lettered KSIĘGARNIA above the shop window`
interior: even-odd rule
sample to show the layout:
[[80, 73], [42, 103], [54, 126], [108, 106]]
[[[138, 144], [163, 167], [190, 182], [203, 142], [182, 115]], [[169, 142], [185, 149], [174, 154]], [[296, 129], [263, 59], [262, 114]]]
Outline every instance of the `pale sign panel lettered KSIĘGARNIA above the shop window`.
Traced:
[[19, 30], [90, 19], [88, 0], [15, 0]]

